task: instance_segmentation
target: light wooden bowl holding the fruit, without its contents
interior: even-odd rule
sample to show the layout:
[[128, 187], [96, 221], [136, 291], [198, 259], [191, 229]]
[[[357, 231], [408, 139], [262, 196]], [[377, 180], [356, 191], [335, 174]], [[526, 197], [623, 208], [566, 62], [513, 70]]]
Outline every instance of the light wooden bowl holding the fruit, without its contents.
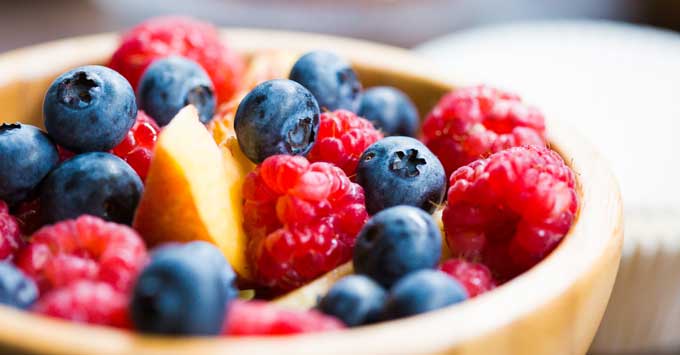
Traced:
[[[330, 49], [350, 58], [366, 86], [394, 85], [426, 113], [452, 85], [397, 48], [301, 33], [230, 29], [242, 54]], [[0, 117], [39, 123], [44, 92], [61, 72], [105, 63], [114, 34], [67, 39], [0, 56]], [[464, 55], [464, 54], [463, 54]], [[607, 305], [622, 244], [616, 180], [592, 146], [558, 122], [551, 144], [577, 172], [580, 214], [543, 262], [488, 294], [403, 320], [318, 335], [170, 338], [86, 326], [0, 307], [0, 344], [45, 354], [585, 354]]]

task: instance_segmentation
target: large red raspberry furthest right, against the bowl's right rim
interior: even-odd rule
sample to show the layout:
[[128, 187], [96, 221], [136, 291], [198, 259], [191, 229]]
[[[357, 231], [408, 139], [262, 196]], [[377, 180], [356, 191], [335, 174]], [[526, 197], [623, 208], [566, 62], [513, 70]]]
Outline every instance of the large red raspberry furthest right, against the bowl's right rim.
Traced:
[[456, 170], [443, 212], [454, 255], [479, 258], [499, 281], [529, 269], [569, 231], [574, 173], [545, 147], [510, 148]]

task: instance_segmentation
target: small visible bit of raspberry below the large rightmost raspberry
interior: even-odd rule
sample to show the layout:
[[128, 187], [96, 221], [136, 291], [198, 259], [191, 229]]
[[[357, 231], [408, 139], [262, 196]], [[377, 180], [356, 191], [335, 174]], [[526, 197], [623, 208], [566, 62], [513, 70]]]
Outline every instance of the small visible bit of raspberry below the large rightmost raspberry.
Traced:
[[460, 282], [467, 290], [470, 298], [491, 291], [496, 287], [496, 281], [493, 279], [491, 271], [484, 264], [463, 259], [450, 259], [439, 265], [439, 270]]

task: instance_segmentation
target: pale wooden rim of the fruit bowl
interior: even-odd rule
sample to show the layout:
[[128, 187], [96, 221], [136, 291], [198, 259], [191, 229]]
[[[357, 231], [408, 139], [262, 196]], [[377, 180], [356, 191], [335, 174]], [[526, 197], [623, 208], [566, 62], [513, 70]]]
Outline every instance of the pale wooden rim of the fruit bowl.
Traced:
[[[242, 54], [266, 49], [330, 49], [358, 66], [398, 73], [441, 88], [454, 87], [451, 77], [407, 50], [362, 40], [299, 32], [222, 29], [221, 35]], [[0, 87], [22, 80], [54, 76], [54, 68], [103, 62], [116, 47], [113, 33], [73, 37], [13, 50], [0, 55]], [[50, 64], [45, 65], [45, 55]], [[68, 55], [78, 53], [77, 57]], [[50, 69], [52, 68], [52, 69]], [[493, 292], [436, 312], [340, 332], [287, 337], [159, 337], [113, 328], [80, 325], [0, 306], [0, 344], [40, 349], [53, 354], [164, 352], [210, 353], [366, 353], [443, 352], [480, 339], [499, 327], [522, 322], [551, 303], [605, 263], [618, 265], [622, 245], [622, 202], [618, 184], [592, 145], [558, 121], [548, 120], [551, 144], [577, 173], [580, 215], [560, 246], [531, 270]], [[557, 277], [556, 275], [559, 275]], [[610, 288], [611, 290], [611, 288]], [[482, 316], [480, 316], [482, 315]], [[394, 339], [418, 341], [394, 342]]]

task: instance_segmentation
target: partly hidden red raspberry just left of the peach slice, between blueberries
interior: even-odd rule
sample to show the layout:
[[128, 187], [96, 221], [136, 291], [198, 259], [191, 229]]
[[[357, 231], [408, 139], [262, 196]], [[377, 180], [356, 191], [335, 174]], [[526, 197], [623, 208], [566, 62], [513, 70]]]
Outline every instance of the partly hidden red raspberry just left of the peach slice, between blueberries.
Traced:
[[143, 111], [137, 112], [137, 121], [127, 135], [113, 150], [113, 154], [125, 160], [137, 172], [142, 181], [151, 165], [153, 147], [156, 145], [161, 129], [151, 117]]

